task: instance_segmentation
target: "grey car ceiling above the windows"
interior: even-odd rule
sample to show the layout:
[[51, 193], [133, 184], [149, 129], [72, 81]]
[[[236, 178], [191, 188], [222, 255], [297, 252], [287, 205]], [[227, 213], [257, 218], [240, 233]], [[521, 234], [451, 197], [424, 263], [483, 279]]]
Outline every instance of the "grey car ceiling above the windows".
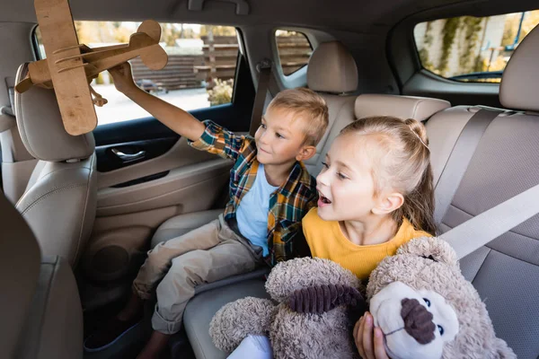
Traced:
[[[75, 20], [218, 23], [276, 26], [383, 34], [411, 15], [445, 17], [489, 15], [532, 10], [530, 0], [247, 0], [248, 15], [236, 15], [234, 4], [206, 0], [202, 11], [188, 10], [188, 0], [71, 0]], [[534, 4], [535, 3], [535, 4]], [[36, 22], [32, 0], [2, 0], [1, 22]], [[427, 11], [427, 10], [431, 11]], [[427, 11], [427, 12], [426, 12]]]

